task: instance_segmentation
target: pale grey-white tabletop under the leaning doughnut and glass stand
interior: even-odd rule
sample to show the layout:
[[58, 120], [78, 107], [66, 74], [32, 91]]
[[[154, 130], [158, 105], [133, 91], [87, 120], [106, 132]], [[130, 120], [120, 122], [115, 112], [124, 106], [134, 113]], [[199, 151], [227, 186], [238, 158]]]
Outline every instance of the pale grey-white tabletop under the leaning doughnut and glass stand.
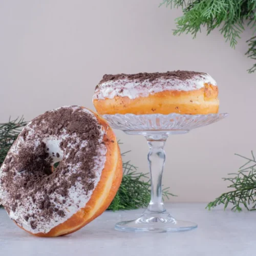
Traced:
[[198, 223], [180, 233], [126, 233], [114, 224], [141, 210], [104, 212], [79, 231], [60, 238], [36, 238], [18, 228], [0, 209], [0, 255], [179, 255], [251, 256], [256, 252], [256, 212], [208, 211], [205, 204], [167, 204], [174, 217]]

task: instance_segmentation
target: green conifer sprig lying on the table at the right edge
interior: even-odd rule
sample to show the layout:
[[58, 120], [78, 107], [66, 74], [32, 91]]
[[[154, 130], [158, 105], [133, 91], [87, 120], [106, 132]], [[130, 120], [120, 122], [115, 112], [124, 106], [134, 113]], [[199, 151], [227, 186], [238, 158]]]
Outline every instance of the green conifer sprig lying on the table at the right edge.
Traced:
[[231, 191], [223, 193], [220, 197], [210, 202], [206, 208], [211, 209], [223, 204], [224, 209], [229, 204], [233, 205], [232, 210], [242, 211], [242, 207], [247, 210], [256, 210], [256, 160], [251, 152], [251, 158], [243, 157], [246, 163], [239, 168], [238, 173], [229, 174], [229, 178], [223, 178], [231, 182]]

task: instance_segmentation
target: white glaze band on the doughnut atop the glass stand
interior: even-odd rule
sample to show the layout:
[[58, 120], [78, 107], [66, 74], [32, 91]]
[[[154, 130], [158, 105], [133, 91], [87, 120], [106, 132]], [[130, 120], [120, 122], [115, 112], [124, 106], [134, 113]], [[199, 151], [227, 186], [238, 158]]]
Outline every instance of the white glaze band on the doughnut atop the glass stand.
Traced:
[[146, 79], [138, 81], [136, 79], [118, 79], [115, 81], [106, 81], [99, 84], [95, 90], [93, 99], [113, 99], [115, 96], [129, 97], [135, 99], [138, 97], [147, 97], [150, 94], [162, 91], [192, 91], [204, 87], [204, 83], [210, 83], [217, 86], [216, 81], [209, 74], [194, 76], [192, 79], [166, 79], [157, 78], [153, 81]]

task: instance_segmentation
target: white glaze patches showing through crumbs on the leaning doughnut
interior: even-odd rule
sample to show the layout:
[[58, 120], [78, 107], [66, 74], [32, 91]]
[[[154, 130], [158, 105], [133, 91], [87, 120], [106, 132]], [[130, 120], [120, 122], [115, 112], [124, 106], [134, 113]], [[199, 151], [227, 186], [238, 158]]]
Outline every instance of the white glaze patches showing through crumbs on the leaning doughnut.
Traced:
[[[64, 108], [70, 108], [70, 107], [65, 106]], [[72, 107], [72, 108], [73, 108], [73, 110], [78, 109], [78, 107]], [[53, 110], [53, 111], [55, 111], [55, 110]], [[94, 119], [96, 119], [94, 114], [92, 112], [90, 112], [89, 110], [82, 109], [82, 111], [89, 113], [90, 115], [92, 115], [92, 117]], [[35, 136], [35, 134], [34, 134], [35, 127], [31, 126], [31, 122], [26, 126], [26, 129], [29, 130], [27, 137], [32, 136], [32, 135]], [[40, 134], [39, 136], [43, 136], [43, 135]], [[63, 141], [67, 136], [69, 136], [69, 135], [67, 134], [65, 129], [63, 129], [63, 131], [61, 132], [60, 135], [57, 135], [57, 136], [56, 135], [52, 135], [52, 136], [47, 135], [43, 139], [43, 141], [46, 143], [46, 146], [49, 148], [49, 153], [51, 155], [52, 155], [52, 152], [55, 152], [55, 154], [56, 154], [56, 152], [58, 152], [60, 155], [59, 158], [54, 157], [54, 159], [53, 159], [54, 162], [60, 161], [63, 157], [68, 157], [67, 155], [65, 155], [65, 152], [63, 152], [60, 149], [60, 146], [59, 146], [59, 143], [61, 141]], [[76, 134], [73, 134], [72, 136], [76, 136]], [[103, 130], [103, 127], [101, 126], [100, 137], [99, 137], [100, 146], [98, 147], [98, 150], [97, 150], [98, 156], [94, 159], [95, 165], [94, 165], [94, 169], [93, 169], [96, 177], [91, 180], [95, 184], [94, 189], [96, 188], [96, 186], [100, 180], [101, 173], [104, 168], [105, 161], [106, 161], [106, 157], [105, 157], [106, 147], [104, 144], [101, 144], [101, 142], [103, 140], [103, 136], [104, 136], [104, 130]], [[35, 147], [38, 145], [38, 142], [39, 142], [39, 140], [37, 140], [37, 139], [34, 140]], [[18, 154], [19, 145], [23, 144], [23, 143], [25, 143], [23, 137], [19, 136], [18, 139], [12, 145], [12, 147], [10, 149], [10, 153]], [[81, 141], [77, 138], [77, 141], [75, 144], [68, 145], [67, 147], [71, 147], [71, 146], [74, 147], [76, 144], [79, 144], [80, 147], [87, 146], [87, 141]], [[2, 167], [0, 168], [0, 178], [3, 177], [4, 175], [6, 175], [6, 173], [3, 172], [3, 169], [5, 168], [5, 166], [6, 165], [3, 164]], [[80, 167], [79, 163], [77, 165], [70, 164], [68, 167], [69, 173], [66, 175], [70, 176], [73, 173], [76, 173], [77, 169], [79, 167]], [[16, 174], [16, 176], [15, 176], [15, 177], [17, 177], [16, 181], [18, 181], [19, 175], [20, 174]], [[59, 178], [60, 177], [57, 177], [53, 182], [59, 183], [59, 180], [60, 180]], [[14, 182], [15, 182], [15, 180], [14, 180]], [[49, 184], [48, 187], [50, 187], [51, 184]], [[40, 209], [36, 208], [35, 204], [32, 202], [31, 197], [26, 197], [26, 201], [25, 201], [23, 207], [18, 206], [15, 212], [13, 212], [11, 210], [9, 217], [12, 220], [15, 220], [19, 226], [24, 227], [26, 230], [28, 230], [32, 233], [38, 233], [38, 232], [47, 233], [55, 226], [68, 220], [79, 209], [86, 206], [87, 202], [89, 201], [89, 199], [91, 198], [91, 196], [93, 194], [94, 189], [90, 190], [89, 193], [86, 195], [82, 186], [83, 186], [83, 184], [81, 184], [78, 180], [76, 183], [76, 187], [73, 186], [69, 189], [67, 198], [61, 197], [59, 194], [56, 194], [56, 192], [54, 192], [53, 194], [50, 195], [50, 199], [52, 201], [54, 200], [54, 198], [58, 198], [58, 202], [55, 202], [55, 205], [56, 205], [55, 207], [57, 207], [60, 210], [65, 211], [65, 217], [60, 217], [56, 213], [54, 213], [52, 219], [48, 222], [46, 222], [45, 219], [41, 217], [41, 219], [36, 220], [36, 222], [37, 222], [36, 229], [32, 229], [30, 222], [33, 221], [33, 219], [29, 219], [28, 221], [26, 221], [24, 217], [28, 214], [35, 214], [38, 216], [36, 211], [37, 210], [40, 211]], [[35, 198], [40, 198], [42, 196], [40, 192], [38, 193], [37, 191], [34, 191], [34, 193], [35, 193]], [[10, 195], [6, 193], [4, 187], [0, 183], [0, 201], [3, 203], [3, 205], [5, 205], [5, 203], [10, 202], [10, 200], [11, 200]], [[62, 200], [66, 200], [66, 202], [63, 203]]]

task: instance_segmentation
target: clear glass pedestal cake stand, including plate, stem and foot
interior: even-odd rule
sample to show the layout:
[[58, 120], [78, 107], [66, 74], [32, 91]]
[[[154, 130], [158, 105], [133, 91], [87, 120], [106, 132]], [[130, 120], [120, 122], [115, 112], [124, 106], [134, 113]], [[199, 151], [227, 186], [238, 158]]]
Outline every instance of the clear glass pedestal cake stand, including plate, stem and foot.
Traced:
[[129, 135], [143, 135], [150, 148], [147, 154], [151, 174], [151, 201], [143, 214], [135, 220], [119, 222], [116, 230], [128, 232], [186, 231], [197, 227], [190, 221], [173, 217], [164, 208], [162, 200], [162, 173], [165, 162], [164, 144], [169, 135], [185, 134], [225, 118], [227, 114], [180, 115], [180, 114], [115, 114], [103, 115], [113, 129]]

